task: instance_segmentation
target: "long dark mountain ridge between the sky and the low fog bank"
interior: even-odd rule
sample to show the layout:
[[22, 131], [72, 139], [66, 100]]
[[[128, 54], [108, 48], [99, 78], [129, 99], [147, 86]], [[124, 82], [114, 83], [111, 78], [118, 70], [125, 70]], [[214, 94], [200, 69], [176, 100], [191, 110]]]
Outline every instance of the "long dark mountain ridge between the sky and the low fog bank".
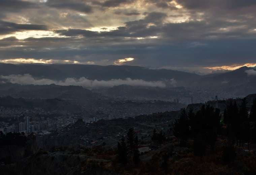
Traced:
[[98, 66], [79, 64], [0, 64], [0, 75], [30, 74], [33, 77], [44, 77], [63, 80], [68, 77], [88, 79], [143, 79], [156, 81], [161, 79], [175, 79], [179, 81], [198, 78], [199, 75], [167, 69], [148, 69], [138, 66]]

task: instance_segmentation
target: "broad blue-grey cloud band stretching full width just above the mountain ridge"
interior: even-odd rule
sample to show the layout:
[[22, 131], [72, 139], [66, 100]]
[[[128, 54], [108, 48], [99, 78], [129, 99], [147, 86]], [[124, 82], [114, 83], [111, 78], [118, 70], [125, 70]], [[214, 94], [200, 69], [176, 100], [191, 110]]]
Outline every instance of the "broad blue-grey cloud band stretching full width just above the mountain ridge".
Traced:
[[[83, 45], [87, 41], [88, 45]], [[102, 47], [102, 42], [106, 42]], [[25, 43], [24, 43], [25, 42]], [[122, 43], [122, 44], [114, 44]], [[1, 41], [0, 41], [1, 43]], [[66, 43], [69, 43], [67, 45]], [[232, 43], [232, 44], [230, 44]], [[226, 39], [226, 40], [204, 40], [199, 46], [191, 47], [190, 43], [138, 43], [136, 40], [124, 42], [122, 40], [103, 40], [97, 43], [95, 40], [82, 40], [74, 38], [30, 38], [19, 43], [15, 40], [9, 44], [23, 44], [23, 47], [4, 48], [1, 55], [4, 58], [47, 58], [47, 59], [76, 59], [83, 62], [84, 58], [88, 61], [99, 61], [107, 58], [111, 64], [116, 59], [123, 57], [140, 58], [136, 60], [135, 65], [161, 67], [162, 65], [176, 66], [208, 66], [253, 62], [256, 51], [253, 39]], [[70, 46], [70, 47], [69, 47]], [[51, 48], [51, 49], [48, 49]], [[243, 49], [238, 49], [243, 48]], [[79, 56], [79, 57], [75, 57]], [[158, 58], [158, 59], [155, 59]], [[177, 59], [179, 58], [179, 59]], [[230, 62], [232, 61], [232, 62]]]

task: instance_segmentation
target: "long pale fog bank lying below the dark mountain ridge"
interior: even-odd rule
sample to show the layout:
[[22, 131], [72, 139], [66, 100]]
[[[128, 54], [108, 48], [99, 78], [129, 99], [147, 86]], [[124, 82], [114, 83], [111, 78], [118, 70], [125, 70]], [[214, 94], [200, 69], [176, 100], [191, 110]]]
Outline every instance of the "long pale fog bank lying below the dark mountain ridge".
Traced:
[[[87, 89], [95, 89], [100, 87], [113, 87], [117, 85], [131, 85], [131, 86], [149, 86], [149, 87], [159, 87], [159, 88], [165, 88], [166, 86], [175, 86], [177, 83], [174, 79], [166, 80], [166, 81], [145, 81], [142, 79], [111, 79], [111, 80], [89, 80], [85, 77], [81, 78], [66, 78], [63, 81], [56, 81], [46, 78], [34, 78], [30, 74], [24, 74], [24, 75], [8, 75], [8, 76], [0, 76], [1, 79], [4, 80], [4, 82], [10, 82], [10, 83], [18, 83], [18, 84], [34, 84], [34, 85], [49, 85], [49, 84], [57, 84], [57, 85], [77, 85], [77, 86], [83, 86]], [[4, 83], [2, 82], [2, 83]]]

